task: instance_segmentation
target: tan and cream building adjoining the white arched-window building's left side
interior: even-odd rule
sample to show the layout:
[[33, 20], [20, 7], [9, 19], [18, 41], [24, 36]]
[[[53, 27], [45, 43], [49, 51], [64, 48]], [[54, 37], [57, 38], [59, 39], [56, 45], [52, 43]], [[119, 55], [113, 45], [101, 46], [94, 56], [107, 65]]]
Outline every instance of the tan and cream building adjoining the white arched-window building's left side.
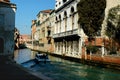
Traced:
[[[37, 14], [37, 19], [34, 24], [36, 30], [33, 33], [33, 39], [36, 43], [37, 49], [43, 51], [51, 51], [51, 43], [53, 42], [51, 39], [51, 26], [50, 26], [50, 13], [51, 9], [42, 10]], [[32, 26], [33, 30], [33, 26]]]

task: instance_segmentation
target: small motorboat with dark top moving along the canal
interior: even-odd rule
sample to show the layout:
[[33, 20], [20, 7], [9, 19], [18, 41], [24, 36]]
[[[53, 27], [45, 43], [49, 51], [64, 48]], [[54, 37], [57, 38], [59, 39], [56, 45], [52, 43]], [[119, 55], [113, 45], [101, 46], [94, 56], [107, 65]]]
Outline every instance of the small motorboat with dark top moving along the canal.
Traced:
[[37, 53], [35, 56], [35, 62], [39, 63], [39, 62], [50, 62], [48, 55], [45, 53]]

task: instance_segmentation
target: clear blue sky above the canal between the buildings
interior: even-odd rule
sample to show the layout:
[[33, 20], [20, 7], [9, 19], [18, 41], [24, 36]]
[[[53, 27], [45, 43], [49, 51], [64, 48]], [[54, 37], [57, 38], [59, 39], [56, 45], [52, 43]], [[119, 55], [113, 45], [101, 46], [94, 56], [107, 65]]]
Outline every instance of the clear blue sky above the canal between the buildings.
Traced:
[[32, 20], [37, 19], [39, 11], [54, 9], [55, 0], [10, 0], [16, 4], [15, 27], [20, 34], [31, 34]]

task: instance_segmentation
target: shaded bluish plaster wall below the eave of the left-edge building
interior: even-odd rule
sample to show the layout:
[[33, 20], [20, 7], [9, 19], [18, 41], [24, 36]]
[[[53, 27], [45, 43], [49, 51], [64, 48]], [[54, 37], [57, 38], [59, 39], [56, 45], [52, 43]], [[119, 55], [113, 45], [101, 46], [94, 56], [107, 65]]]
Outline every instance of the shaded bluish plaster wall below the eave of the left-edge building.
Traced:
[[0, 7], [0, 14], [4, 16], [4, 24], [0, 25], [0, 38], [4, 40], [4, 51], [0, 55], [13, 54], [15, 9], [5, 5]]

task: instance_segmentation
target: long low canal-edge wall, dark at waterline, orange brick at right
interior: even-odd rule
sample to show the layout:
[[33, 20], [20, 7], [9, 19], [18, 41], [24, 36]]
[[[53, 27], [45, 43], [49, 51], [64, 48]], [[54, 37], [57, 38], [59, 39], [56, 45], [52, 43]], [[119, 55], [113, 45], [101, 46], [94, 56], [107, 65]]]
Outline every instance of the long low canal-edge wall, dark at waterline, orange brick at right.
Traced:
[[41, 53], [47, 53], [52, 56], [60, 57], [66, 60], [87, 64], [91, 66], [98, 66], [98, 67], [104, 67], [104, 68], [111, 68], [111, 69], [117, 69], [120, 70], [120, 57], [109, 55], [109, 56], [101, 56], [101, 55], [87, 55], [87, 58], [85, 58], [85, 55], [82, 55], [82, 58], [79, 57], [72, 57], [72, 56], [66, 56], [66, 55], [60, 55], [56, 53], [41, 51], [38, 49], [32, 49], [33, 51], [39, 51]]

